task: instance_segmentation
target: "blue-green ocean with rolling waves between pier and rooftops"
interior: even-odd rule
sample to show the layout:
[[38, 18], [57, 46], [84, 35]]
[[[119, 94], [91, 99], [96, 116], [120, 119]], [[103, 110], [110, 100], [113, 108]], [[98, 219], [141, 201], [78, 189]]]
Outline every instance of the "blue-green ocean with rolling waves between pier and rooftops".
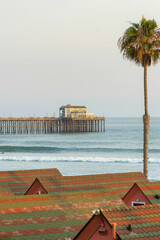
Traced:
[[[106, 118], [106, 131], [1, 135], [0, 170], [58, 168], [63, 175], [143, 171], [142, 118]], [[160, 118], [151, 118], [149, 180], [160, 181]]]

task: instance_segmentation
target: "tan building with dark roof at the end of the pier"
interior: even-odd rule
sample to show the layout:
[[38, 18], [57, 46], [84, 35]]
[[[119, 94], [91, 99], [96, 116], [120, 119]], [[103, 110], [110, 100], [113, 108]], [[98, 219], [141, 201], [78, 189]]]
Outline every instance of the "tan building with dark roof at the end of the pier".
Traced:
[[85, 106], [62, 106], [59, 109], [60, 118], [94, 118], [94, 113], [87, 113]]

